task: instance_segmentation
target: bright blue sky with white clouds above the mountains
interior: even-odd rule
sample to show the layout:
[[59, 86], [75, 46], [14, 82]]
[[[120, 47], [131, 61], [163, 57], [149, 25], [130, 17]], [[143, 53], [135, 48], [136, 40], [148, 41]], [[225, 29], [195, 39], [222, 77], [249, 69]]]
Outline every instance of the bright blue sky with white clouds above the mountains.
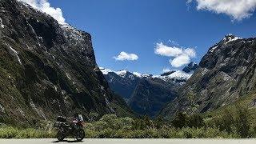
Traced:
[[92, 35], [98, 66], [161, 74], [226, 34], [255, 37], [256, 0], [19, 0]]

